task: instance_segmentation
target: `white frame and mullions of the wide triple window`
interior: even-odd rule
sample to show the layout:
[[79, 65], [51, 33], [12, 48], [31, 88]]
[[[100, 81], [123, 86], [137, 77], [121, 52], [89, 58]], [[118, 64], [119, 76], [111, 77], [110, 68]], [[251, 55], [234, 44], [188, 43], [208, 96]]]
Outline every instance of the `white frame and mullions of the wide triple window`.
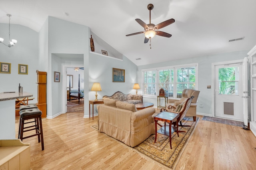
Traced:
[[[156, 67], [156, 68], [151, 68], [151, 69], [142, 69], [142, 78], [141, 78], [141, 82], [142, 82], [142, 95], [143, 97], [146, 97], [146, 98], [156, 98], [158, 95], [159, 95], [159, 71], [162, 71], [162, 70], [166, 70], [166, 69], [173, 69], [174, 70], [174, 82], [173, 82], [173, 94], [174, 94], [174, 97], [169, 97], [170, 99], [180, 99], [180, 98], [177, 98], [177, 84], [180, 83], [180, 82], [177, 82], [177, 74], [178, 74], [178, 71], [177, 69], [180, 69], [180, 68], [188, 68], [188, 67], [195, 67], [195, 90], [198, 90], [198, 63], [191, 63], [191, 64], [184, 64], [184, 65], [173, 65], [173, 66], [169, 66], [169, 67]], [[156, 71], [156, 95], [148, 95], [148, 94], [144, 94], [144, 72], [145, 71]], [[188, 82], [186, 82], [188, 83]], [[172, 84], [172, 83], [171, 83]]]

